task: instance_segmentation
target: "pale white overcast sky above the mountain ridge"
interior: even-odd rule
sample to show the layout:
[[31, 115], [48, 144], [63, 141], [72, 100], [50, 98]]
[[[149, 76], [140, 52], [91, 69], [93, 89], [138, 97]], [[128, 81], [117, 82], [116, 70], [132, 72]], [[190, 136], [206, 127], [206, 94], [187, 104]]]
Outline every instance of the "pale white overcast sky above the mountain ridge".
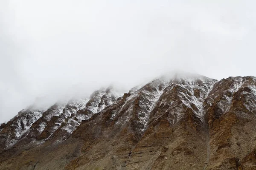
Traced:
[[111, 83], [128, 91], [175, 69], [215, 79], [256, 76], [255, 6], [255, 0], [1, 0], [0, 122], [37, 97], [53, 101]]

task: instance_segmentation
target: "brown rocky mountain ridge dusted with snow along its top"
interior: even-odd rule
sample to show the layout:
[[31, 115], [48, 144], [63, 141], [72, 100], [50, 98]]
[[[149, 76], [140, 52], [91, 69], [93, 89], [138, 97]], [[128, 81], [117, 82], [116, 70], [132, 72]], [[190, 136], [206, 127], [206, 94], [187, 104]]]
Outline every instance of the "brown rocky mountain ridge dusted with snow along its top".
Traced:
[[256, 170], [255, 132], [255, 77], [161, 77], [21, 111], [0, 126], [0, 169]]

